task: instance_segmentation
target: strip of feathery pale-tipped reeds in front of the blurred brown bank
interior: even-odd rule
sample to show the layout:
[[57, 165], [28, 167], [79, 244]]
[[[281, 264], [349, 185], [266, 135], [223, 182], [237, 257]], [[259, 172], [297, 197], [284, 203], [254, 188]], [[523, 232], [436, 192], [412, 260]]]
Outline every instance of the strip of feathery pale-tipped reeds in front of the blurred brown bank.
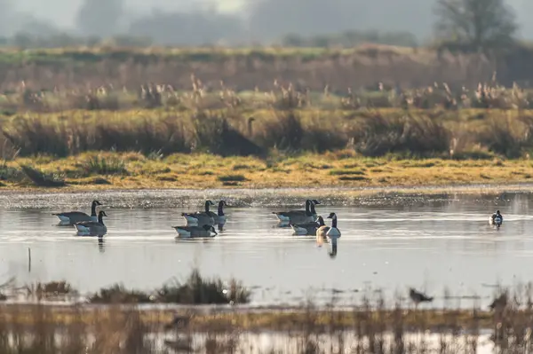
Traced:
[[496, 79], [473, 85], [450, 86], [447, 82], [434, 82], [427, 86], [401, 88], [378, 80], [362, 87], [348, 86], [332, 90], [330, 85], [311, 90], [298, 83], [273, 80], [269, 90], [239, 90], [219, 81], [208, 85], [195, 75], [188, 77], [187, 88], [177, 88], [170, 83], [141, 83], [137, 87], [116, 87], [112, 83], [97, 86], [90, 84], [75, 89], [53, 90], [33, 88], [22, 82], [0, 95], [0, 114], [24, 112], [61, 113], [66, 110], [124, 111], [135, 109], [166, 108], [177, 111], [197, 109], [287, 110], [308, 108], [315, 110], [360, 110], [370, 108], [458, 110], [530, 109], [533, 107], [533, 90], [517, 83], [511, 87], [499, 84]]

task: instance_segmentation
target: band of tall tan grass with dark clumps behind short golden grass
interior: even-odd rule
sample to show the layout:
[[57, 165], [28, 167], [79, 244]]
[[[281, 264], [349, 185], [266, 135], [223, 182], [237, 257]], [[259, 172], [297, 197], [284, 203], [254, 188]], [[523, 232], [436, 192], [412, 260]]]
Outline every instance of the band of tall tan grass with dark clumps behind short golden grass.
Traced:
[[[221, 156], [352, 149], [362, 156], [516, 158], [533, 149], [533, 111], [197, 110], [71, 112], [0, 118], [0, 155], [56, 157], [86, 151], [214, 153]], [[0, 141], [1, 142], [1, 141]], [[111, 165], [105, 165], [110, 162]], [[120, 161], [88, 161], [87, 171], [123, 173]]]

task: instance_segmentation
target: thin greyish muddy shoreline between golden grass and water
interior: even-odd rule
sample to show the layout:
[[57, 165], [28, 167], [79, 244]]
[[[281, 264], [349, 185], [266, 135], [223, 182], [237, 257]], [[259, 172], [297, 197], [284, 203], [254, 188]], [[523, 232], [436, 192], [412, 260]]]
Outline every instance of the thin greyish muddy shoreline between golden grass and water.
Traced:
[[[533, 184], [428, 185], [413, 187], [320, 187], [320, 188], [217, 188], [217, 189], [64, 189], [1, 191], [0, 208], [56, 208], [84, 206], [87, 200], [102, 199], [107, 208], [176, 208], [196, 205], [205, 199], [226, 199], [236, 208], [252, 206], [298, 206], [304, 198], [321, 198], [327, 205], [393, 206], [420, 205], [457, 199], [477, 199], [492, 204], [513, 194], [533, 193]], [[280, 204], [282, 203], [282, 204]]]

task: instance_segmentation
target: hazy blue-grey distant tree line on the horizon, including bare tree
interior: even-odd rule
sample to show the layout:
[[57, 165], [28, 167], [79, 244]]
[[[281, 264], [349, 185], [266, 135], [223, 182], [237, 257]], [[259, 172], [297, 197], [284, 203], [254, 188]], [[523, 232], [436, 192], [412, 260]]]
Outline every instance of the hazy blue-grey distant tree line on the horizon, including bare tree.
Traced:
[[[398, 5], [400, 2], [385, 1], [375, 0], [386, 14], [411, 10], [413, 16], [418, 13], [418, 0], [403, 0], [402, 6]], [[442, 48], [494, 51], [515, 43], [518, 25], [505, 0], [435, 1], [431, 7], [434, 13], [432, 42]], [[302, 0], [259, 0], [248, 7], [248, 17], [198, 8], [193, 12], [154, 11], [132, 20], [125, 20], [123, 0], [84, 0], [77, 15], [77, 29], [72, 33], [36, 19], [27, 19], [27, 26], [10, 33], [6, 24], [12, 6], [12, 0], [0, 0], [0, 45], [21, 48], [104, 43], [119, 46], [249, 45], [257, 43], [256, 38], [263, 38], [259, 43], [314, 47], [428, 43], [419, 43], [412, 32], [388, 28], [386, 18], [379, 22], [379, 30], [350, 29], [370, 15], [369, 8], [362, 2], [344, 0], [306, 0], [305, 4]]]

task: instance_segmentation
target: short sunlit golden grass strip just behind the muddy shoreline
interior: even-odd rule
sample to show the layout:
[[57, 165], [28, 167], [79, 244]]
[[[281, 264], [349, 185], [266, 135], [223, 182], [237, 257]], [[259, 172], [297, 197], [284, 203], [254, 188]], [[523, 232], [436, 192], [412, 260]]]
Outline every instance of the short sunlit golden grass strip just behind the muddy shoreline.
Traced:
[[[120, 163], [118, 173], [100, 175], [87, 169], [95, 155]], [[390, 187], [512, 184], [533, 181], [533, 161], [445, 159], [394, 160], [362, 158], [350, 151], [306, 153], [297, 157], [220, 157], [204, 153], [176, 153], [151, 160], [140, 153], [81, 153], [64, 159], [18, 158], [7, 161], [19, 171], [29, 164], [64, 179], [63, 190], [139, 188], [277, 188], [277, 187]], [[32, 189], [21, 172], [5, 180], [0, 190]]]

